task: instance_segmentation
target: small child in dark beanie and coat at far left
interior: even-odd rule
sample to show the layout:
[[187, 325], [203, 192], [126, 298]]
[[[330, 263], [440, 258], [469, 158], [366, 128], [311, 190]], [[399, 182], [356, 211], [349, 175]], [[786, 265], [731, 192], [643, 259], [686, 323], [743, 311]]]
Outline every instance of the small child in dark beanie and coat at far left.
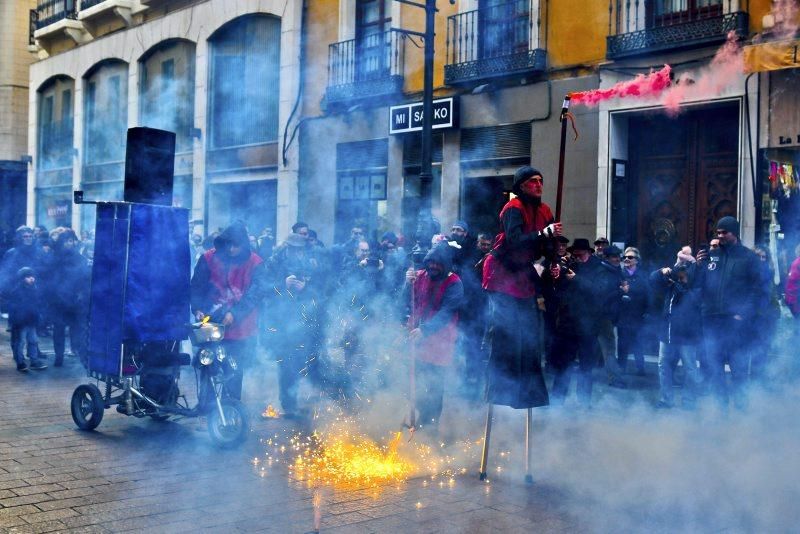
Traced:
[[[39, 339], [36, 328], [42, 308], [42, 295], [36, 284], [36, 273], [30, 267], [22, 267], [17, 271], [17, 281], [9, 291], [8, 325], [11, 327], [11, 352], [17, 371], [25, 372], [47, 369], [47, 364], [39, 352]], [[25, 361], [24, 348], [27, 345], [28, 360]]]

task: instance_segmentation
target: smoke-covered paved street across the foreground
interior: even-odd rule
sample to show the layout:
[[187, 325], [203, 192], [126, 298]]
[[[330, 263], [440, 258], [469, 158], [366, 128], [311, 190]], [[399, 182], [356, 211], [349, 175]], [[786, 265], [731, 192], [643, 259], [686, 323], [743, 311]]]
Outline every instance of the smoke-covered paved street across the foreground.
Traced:
[[[239, 449], [214, 448], [201, 419], [158, 423], [113, 408], [96, 431], [81, 432], [69, 413], [73, 389], [88, 381], [78, 361], [19, 373], [0, 326], [0, 532], [738, 532], [793, 530], [800, 519], [791, 505], [800, 498], [791, 460], [796, 417], [788, 434], [768, 437], [784, 423], [740, 421], [737, 441], [724, 421], [687, 424], [695, 415], [677, 410], [657, 415], [649, 408], [652, 361], [647, 377], [630, 377], [627, 391], [598, 387], [594, 413], [568, 406], [536, 415], [532, 486], [522, 481], [524, 416], [501, 410], [488, 484], [476, 476], [473, 451], [452, 481], [326, 488], [315, 501], [286, 462], [266, 460], [266, 440], [288, 435], [292, 424], [259, 417], [274, 395], [270, 369], [261, 370], [264, 391], [252, 379], [245, 385], [253, 428]], [[479, 449], [482, 408], [450, 417], [463, 420]], [[717, 456], [764, 446], [743, 438], [742, 425], [769, 443], [771, 458], [730, 478]], [[713, 444], [707, 453], [706, 443]], [[769, 484], [727, 495], [731, 485], [754, 480], [753, 471]]]

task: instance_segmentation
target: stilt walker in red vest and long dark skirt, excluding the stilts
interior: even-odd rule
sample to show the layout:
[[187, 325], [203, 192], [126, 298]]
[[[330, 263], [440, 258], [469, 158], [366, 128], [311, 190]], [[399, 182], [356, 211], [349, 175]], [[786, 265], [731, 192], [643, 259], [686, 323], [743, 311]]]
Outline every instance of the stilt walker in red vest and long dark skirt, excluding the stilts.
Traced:
[[514, 174], [515, 198], [503, 206], [503, 231], [483, 265], [490, 318], [486, 399], [512, 408], [549, 404], [539, 350], [534, 260], [561, 235], [550, 207], [542, 202], [542, 173], [521, 167]]

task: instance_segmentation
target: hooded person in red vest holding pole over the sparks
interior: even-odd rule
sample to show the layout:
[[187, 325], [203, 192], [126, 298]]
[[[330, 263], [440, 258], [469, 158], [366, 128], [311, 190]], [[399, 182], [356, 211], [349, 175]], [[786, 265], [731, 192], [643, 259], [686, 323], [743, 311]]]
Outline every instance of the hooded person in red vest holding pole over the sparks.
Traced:
[[[416, 343], [414, 380], [423, 428], [436, 429], [442, 415], [445, 370], [453, 364], [458, 337], [458, 310], [464, 286], [452, 272], [451, 247], [439, 243], [425, 255], [424, 269], [409, 269], [404, 290], [411, 302], [409, 338]], [[413, 290], [412, 290], [413, 286]]]

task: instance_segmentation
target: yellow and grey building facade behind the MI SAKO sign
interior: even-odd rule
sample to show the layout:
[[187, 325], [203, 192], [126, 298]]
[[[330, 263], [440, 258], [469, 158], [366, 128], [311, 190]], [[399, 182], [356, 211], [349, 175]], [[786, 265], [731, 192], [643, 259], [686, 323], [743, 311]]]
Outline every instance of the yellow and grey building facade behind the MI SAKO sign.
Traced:
[[[432, 205], [445, 231], [464, 219], [473, 233], [496, 232], [520, 165], [543, 172], [545, 199], [554, 203], [563, 97], [597, 87], [604, 59], [604, 26], [592, 19], [601, 10], [575, 17], [583, 4], [438, 3], [434, 92], [445, 116], [434, 114], [442, 127], [434, 129]], [[392, 0], [330, 0], [313, 3], [308, 20], [300, 217], [337, 242], [356, 223], [373, 236], [413, 236], [424, 12]], [[576, 48], [575, 35], [586, 46]], [[581, 135], [569, 146], [564, 193], [573, 237], [596, 227], [597, 110], [577, 114]]]

